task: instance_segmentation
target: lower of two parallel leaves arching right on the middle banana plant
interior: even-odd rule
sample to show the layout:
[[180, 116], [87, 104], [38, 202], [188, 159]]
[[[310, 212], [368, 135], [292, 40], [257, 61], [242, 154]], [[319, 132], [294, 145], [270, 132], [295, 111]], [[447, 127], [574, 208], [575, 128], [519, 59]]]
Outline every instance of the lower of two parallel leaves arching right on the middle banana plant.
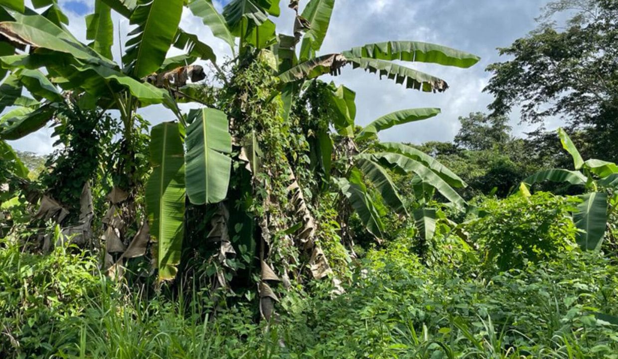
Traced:
[[461, 198], [459, 193], [455, 192], [455, 190], [446, 181], [441, 179], [439, 175], [435, 174], [433, 171], [431, 171], [429, 167], [426, 167], [423, 163], [420, 163], [419, 161], [415, 161], [414, 159], [404, 156], [403, 154], [389, 152], [373, 153], [359, 156], [373, 156], [373, 158], [380, 161], [380, 163], [386, 166], [394, 166], [407, 174], [417, 174], [418, 177], [423, 180], [423, 183], [436, 188], [436, 190], [438, 190], [438, 192], [442, 196], [444, 196], [444, 198], [451, 201], [456, 208], [464, 209], [467, 205], [467, 203], [464, 201], [464, 198]]

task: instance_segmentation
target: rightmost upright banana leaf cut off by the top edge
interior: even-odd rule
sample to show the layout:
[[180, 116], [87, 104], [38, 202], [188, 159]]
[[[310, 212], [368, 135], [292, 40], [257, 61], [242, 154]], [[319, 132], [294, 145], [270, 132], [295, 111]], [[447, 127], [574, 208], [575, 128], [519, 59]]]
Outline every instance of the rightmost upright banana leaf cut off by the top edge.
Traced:
[[305, 6], [301, 16], [308, 20], [310, 29], [303, 36], [303, 42], [300, 46], [300, 61], [314, 57], [315, 52], [322, 47], [334, 6], [335, 0], [310, 0]]

